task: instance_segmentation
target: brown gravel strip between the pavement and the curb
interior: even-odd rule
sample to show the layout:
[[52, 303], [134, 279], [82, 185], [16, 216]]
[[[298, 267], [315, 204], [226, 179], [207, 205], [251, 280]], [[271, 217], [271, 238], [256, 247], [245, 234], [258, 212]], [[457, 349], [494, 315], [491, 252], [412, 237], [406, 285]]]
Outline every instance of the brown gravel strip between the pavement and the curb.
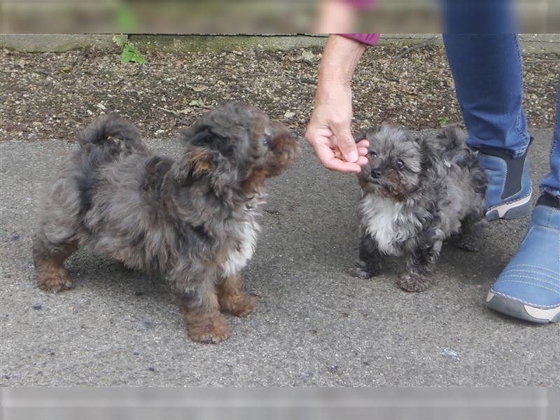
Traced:
[[[443, 48], [368, 48], [353, 80], [360, 130], [382, 122], [411, 129], [460, 122]], [[120, 64], [118, 50], [0, 51], [0, 141], [68, 139], [94, 116], [116, 112], [144, 136], [169, 139], [223, 101], [259, 106], [304, 132], [321, 49], [158, 53]], [[554, 125], [560, 54], [526, 54], [525, 105], [531, 127]]]

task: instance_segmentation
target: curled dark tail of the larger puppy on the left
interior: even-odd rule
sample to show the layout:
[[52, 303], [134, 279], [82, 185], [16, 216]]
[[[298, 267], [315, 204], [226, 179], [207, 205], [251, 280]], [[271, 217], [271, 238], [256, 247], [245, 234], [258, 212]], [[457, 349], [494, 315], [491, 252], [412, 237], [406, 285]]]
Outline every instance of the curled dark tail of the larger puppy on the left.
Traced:
[[125, 151], [144, 151], [145, 147], [139, 130], [134, 125], [126, 123], [120, 117], [110, 114], [101, 116], [88, 125], [78, 137], [80, 146], [87, 145], [118, 148], [121, 143]]

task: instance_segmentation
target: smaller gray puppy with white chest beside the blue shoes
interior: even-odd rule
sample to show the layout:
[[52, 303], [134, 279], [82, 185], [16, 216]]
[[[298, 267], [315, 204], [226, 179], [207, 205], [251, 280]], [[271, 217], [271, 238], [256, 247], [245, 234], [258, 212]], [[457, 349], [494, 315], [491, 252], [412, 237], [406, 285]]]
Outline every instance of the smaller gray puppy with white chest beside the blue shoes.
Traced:
[[[363, 137], [360, 137], [363, 138]], [[436, 136], [413, 137], [393, 125], [367, 130], [368, 163], [358, 175], [362, 188], [360, 260], [352, 274], [379, 274], [384, 255], [402, 255], [407, 272], [398, 285], [426, 290], [430, 265], [443, 241], [475, 251], [482, 237], [486, 177], [475, 153], [455, 126]]]

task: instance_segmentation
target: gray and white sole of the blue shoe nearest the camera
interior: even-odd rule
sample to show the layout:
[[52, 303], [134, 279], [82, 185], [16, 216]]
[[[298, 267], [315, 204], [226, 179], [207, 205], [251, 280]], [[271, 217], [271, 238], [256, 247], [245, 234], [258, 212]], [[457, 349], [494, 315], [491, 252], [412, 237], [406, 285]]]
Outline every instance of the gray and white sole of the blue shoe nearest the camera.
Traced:
[[533, 323], [556, 323], [560, 321], [560, 305], [552, 309], [532, 307], [512, 297], [489, 292], [486, 297], [486, 306], [494, 311], [501, 312], [515, 318], [524, 319]]

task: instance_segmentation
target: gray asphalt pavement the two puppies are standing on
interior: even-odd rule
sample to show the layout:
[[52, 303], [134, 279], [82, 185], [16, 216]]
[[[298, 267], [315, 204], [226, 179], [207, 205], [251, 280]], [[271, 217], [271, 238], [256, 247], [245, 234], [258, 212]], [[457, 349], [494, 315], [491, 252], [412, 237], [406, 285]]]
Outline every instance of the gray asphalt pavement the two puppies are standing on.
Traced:
[[[552, 130], [533, 135], [536, 188]], [[148, 144], [179, 153], [175, 141]], [[356, 179], [323, 170], [307, 146], [269, 182], [246, 269], [258, 310], [228, 317], [228, 341], [190, 342], [160, 279], [87, 250], [66, 263], [76, 288], [43, 293], [30, 252], [38, 199], [75, 147], [0, 144], [2, 386], [560, 386], [560, 324], [484, 307], [528, 220], [491, 224], [480, 253], [445, 246], [425, 293], [395, 286], [400, 260], [355, 279], [344, 270], [357, 255]]]

